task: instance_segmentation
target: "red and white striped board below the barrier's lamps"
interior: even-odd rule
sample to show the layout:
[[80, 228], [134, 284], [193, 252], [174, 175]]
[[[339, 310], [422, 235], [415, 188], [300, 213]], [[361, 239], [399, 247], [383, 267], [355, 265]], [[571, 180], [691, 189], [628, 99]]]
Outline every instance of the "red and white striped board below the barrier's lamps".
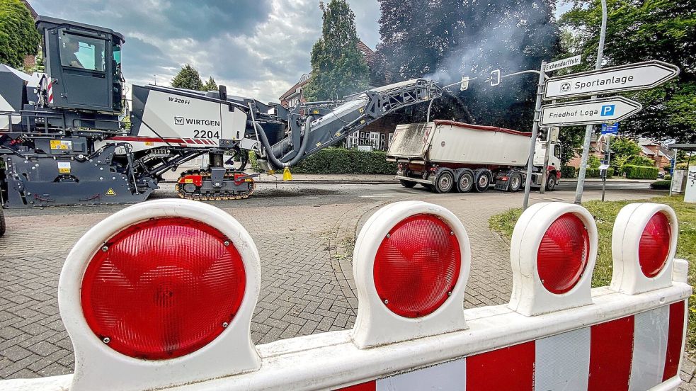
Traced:
[[340, 390], [648, 390], [678, 375], [684, 331], [680, 301]]

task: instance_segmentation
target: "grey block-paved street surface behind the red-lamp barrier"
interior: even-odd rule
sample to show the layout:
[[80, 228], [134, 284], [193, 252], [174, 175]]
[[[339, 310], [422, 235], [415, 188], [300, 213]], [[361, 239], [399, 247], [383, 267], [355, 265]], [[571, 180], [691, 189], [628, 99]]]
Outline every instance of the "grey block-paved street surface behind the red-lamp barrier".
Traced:
[[[599, 184], [600, 186], [600, 184]], [[644, 199], [663, 192], [646, 183], [612, 183], [607, 199]], [[532, 203], [570, 201], [574, 183]], [[570, 188], [568, 190], [565, 190]], [[588, 184], [585, 200], [597, 199]], [[165, 183], [153, 198], [173, 197]], [[434, 194], [396, 183], [260, 183], [247, 200], [216, 201], [249, 231], [261, 255], [261, 294], [251, 324], [256, 344], [349, 329], [358, 300], [352, 276], [355, 235], [377, 209], [399, 200], [443, 205], [460, 217], [472, 244], [464, 307], [508, 302], [509, 246], [488, 228], [489, 217], [522, 204], [522, 193]], [[57, 307], [62, 264], [74, 243], [97, 222], [125, 207], [6, 210], [0, 238], [0, 378], [71, 373], [72, 343]], [[685, 367], [688, 365], [685, 365]], [[692, 376], [683, 373], [684, 376]]]

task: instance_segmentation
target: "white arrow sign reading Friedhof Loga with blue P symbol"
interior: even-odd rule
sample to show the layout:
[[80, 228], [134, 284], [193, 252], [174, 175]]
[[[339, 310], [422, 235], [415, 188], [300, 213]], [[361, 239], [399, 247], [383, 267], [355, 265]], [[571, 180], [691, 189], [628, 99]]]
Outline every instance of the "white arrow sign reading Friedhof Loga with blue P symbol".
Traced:
[[542, 106], [541, 126], [574, 126], [615, 123], [643, 109], [623, 96]]

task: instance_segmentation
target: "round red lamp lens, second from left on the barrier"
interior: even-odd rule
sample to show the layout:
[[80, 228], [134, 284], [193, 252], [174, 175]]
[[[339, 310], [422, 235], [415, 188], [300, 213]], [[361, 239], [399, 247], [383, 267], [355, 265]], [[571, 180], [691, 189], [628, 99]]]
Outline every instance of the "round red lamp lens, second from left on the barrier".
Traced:
[[384, 305], [402, 317], [437, 310], [455, 288], [462, 265], [457, 237], [434, 215], [401, 220], [382, 240], [372, 273]]

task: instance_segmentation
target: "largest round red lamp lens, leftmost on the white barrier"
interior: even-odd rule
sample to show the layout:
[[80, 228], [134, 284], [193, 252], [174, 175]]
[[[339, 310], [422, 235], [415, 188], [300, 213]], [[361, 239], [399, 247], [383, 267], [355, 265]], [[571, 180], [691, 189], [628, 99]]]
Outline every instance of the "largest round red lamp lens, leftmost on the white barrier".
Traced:
[[135, 358], [184, 356], [224, 331], [246, 288], [234, 244], [202, 222], [161, 218], [115, 234], [82, 278], [81, 305], [107, 346]]

